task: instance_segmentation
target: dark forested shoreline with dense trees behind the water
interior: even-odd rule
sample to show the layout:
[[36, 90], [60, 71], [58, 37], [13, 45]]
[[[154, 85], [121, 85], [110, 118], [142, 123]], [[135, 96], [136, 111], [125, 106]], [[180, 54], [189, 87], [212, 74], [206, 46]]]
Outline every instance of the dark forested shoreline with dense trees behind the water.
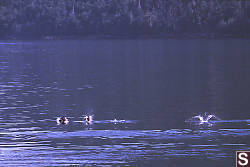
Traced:
[[249, 37], [248, 0], [0, 0], [0, 38]]

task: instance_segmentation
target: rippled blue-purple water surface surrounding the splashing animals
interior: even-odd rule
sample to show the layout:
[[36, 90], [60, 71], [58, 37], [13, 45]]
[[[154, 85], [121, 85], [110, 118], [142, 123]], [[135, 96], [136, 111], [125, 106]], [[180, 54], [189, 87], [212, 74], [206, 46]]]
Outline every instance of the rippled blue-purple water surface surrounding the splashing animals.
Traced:
[[[235, 166], [250, 150], [249, 44], [1, 41], [0, 164]], [[204, 113], [220, 120], [186, 122]]]

